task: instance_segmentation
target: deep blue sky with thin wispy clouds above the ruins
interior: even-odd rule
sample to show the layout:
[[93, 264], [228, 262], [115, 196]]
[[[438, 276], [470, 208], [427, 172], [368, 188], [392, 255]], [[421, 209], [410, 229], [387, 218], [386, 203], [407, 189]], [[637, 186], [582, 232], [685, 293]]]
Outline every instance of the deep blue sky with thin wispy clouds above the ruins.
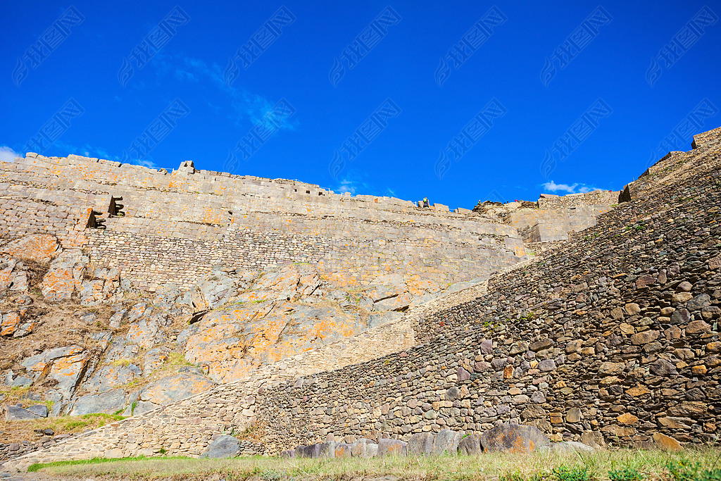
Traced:
[[470, 208], [618, 190], [721, 125], [720, 1], [222, 3], [4, 2], [0, 158]]

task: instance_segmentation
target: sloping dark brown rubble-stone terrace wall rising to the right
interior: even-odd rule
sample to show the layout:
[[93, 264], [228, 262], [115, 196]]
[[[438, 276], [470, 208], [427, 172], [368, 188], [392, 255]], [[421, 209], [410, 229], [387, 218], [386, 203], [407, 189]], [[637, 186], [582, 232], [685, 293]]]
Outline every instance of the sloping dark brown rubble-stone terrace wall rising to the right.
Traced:
[[270, 453], [328, 434], [407, 439], [508, 421], [557, 440], [644, 445], [660, 432], [717, 441], [720, 135], [665, 157], [629, 186], [629, 202], [492, 277], [485, 296], [420, 317], [421, 345], [275, 385], [218, 387], [10, 466], [87, 457], [95, 446], [177, 452], [182, 438], [197, 454], [191, 444], [223, 423], [255, 423]]

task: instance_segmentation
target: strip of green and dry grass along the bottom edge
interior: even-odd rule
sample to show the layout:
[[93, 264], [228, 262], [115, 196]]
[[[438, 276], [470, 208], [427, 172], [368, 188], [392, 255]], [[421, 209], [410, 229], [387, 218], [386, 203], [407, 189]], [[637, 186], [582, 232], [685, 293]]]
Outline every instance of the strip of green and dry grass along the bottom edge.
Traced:
[[[384, 457], [373, 459], [293, 459], [249, 456], [234, 459], [181, 457], [90, 459], [37, 464], [33, 470], [72, 477], [130, 478], [131, 480], [350, 480], [394, 476], [401, 480], [506, 481], [637, 481], [673, 480], [669, 467], [698, 463], [712, 469], [721, 449], [682, 452], [621, 449], [592, 454], [482, 454], [479, 456]], [[678, 480], [676, 481], [686, 481]], [[694, 481], [694, 480], [687, 480]]]

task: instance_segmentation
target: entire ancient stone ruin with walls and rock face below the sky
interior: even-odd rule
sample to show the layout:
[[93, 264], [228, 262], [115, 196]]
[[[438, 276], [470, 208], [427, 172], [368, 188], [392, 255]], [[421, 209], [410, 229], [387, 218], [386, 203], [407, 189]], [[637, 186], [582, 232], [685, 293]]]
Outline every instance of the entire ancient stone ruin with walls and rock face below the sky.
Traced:
[[124, 417], [0, 434], [0, 462], [716, 442], [720, 149], [454, 212], [192, 162], [0, 164], [6, 425]]

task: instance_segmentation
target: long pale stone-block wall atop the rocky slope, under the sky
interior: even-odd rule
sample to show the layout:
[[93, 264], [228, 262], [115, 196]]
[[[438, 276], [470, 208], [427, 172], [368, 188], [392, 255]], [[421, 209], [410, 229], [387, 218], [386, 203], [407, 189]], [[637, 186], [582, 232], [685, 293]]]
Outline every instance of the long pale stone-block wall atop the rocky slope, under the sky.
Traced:
[[[58, 214], [67, 215], [62, 223], [53, 214], [38, 225], [25, 221], [25, 211], [9, 209], [12, 235], [68, 229], [63, 247], [82, 244], [94, 265], [117, 267], [122, 278], [151, 291], [165, 283], [188, 288], [216, 264], [267, 269], [289, 262], [317, 264], [340, 285], [402, 268], [447, 286], [487, 276], [524, 255], [516, 229], [476, 214], [196, 170], [189, 162], [169, 173], [30, 153], [1, 164], [0, 175], [16, 198], [66, 205], [67, 213]], [[87, 224], [102, 229], [84, 231]]]

